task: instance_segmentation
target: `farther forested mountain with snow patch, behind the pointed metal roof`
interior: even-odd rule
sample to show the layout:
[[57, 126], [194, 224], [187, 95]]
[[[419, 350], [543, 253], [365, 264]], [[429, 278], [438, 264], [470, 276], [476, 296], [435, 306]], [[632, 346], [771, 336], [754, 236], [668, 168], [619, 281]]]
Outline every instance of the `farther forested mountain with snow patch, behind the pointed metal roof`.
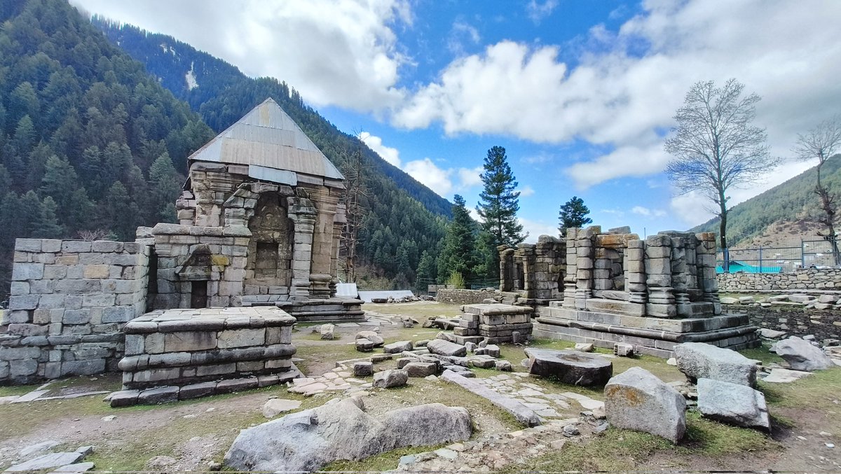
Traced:
[[[405, 288], [415, 282], [423, 250], [429, 250], [434, 260], [446, 220], [452, 215], [451, 204], [384, 161], [356, 136], [336, 129], [307, 106], [294, 88], [273, 78], [249, 78], [235, 66], [171, 36], [105, 18], [93, 17], [92, 22], [115, 45], [143, 62], [161, 85], [189, 103], [215, 131], [224, 130], [272, 97], [346, 176], [354, 172], [348, 169], [351, 163], [361, 164], [364, 218], [357, 255], [359, 265], [371, 269], [370, 273]], [[359, 160], [353, 159], [355, 154]]]

